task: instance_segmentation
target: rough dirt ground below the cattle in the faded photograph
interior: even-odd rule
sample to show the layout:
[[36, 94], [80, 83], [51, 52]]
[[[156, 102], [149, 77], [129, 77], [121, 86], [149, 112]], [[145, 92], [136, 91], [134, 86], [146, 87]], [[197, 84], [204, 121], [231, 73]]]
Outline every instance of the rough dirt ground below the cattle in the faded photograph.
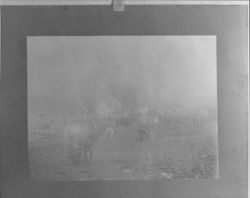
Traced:
[[138, 139], [133, 126], [101, 136], [90, 165], [65, 155], [63, 133], [29, 136], [31, 180], [147, 180], [218, 178], [217, 127], [159, 126], [155, 139]]

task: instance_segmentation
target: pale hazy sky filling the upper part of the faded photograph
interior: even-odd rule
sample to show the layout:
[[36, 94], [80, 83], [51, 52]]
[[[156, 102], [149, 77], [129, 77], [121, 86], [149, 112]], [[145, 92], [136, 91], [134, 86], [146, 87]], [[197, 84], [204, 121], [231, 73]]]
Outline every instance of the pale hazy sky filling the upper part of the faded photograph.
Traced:
[[29, 102], [84, 106], [96, 90], [115, 87], [134, 88], [139, 101], [153, 105], [216, 104], [215, 36], [35, 36], [27, 42]]

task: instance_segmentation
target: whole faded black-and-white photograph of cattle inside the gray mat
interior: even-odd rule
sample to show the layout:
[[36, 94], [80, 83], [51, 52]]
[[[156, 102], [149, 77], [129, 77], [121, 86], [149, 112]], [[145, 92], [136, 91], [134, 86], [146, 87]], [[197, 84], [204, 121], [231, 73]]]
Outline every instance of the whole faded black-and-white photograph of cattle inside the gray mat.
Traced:
[[30, 180], [218, 179], [216, 36], [28, 36]]

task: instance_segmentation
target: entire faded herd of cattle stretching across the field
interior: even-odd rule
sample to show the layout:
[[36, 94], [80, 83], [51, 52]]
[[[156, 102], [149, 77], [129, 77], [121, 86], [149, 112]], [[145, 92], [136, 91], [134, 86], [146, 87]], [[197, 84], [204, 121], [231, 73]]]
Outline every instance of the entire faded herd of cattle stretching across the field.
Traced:
[[185, 115], [179, 109], [169, 113], [171, 115], [160, 110], [152, 113], [147, 109], [141, 109], [137, 114], [102, 118], [91, 115], [82, 123], [67, 124], [63, 127], [66, 156], [74, 162], [88, 165], [91, 163], [99, 137], [104, 136], [105, 139], [112, 140], [120, 126], [130, 127], [133, 123], [136, 123], [135, 131], [140, 141], [154, 140], [159, 127], [167, 124], [170, 119], [180, 120], [184, 126], [188, 124], [193, 129], [207, 130], [209, 113], [205, 108], [196, 111], [193, 115], [190, 112]]

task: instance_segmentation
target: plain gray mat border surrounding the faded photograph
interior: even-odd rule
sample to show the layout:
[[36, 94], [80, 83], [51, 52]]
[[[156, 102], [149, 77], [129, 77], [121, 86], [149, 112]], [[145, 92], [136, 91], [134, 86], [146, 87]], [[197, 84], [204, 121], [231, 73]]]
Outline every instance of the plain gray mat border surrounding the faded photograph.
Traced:
[[[3, 197], [247, 197], [246, 6], [3, 6], [1, 14]], [[35, 35], [216, 35], [220, 179], [29, 181], [26, 37]]]

